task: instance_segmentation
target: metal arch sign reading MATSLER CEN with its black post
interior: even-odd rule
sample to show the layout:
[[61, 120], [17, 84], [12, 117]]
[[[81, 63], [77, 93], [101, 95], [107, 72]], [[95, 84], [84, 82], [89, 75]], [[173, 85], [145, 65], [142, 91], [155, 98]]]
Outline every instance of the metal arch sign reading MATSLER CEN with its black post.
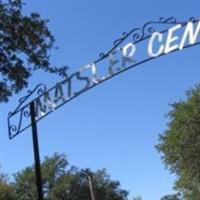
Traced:
[[[178, 33], [177, 36], [175, 32]], [[179, 38], [179, 35], [182, 37]], [[177, 41], [179, 44], [175, 44]], [[47, 90], [45, 85], [39, 84], [32, 91], [28, 91], [28, 94], [19, 100], [17, 108], [8, 114], [8, 132], [9, 138], [12, 139], [32, 127], [38, 199], [43, 199], [37, 139], [38, 121], [122, 72], [168, 53], [199, 44], [199, 19], [190, 18], [186, 22], [178, 22], [174, 17], [160, 18], [158, 21], [147, 22], [142, 28], [124, 32], [108, 52], [101, 53], [97, 60], [85, 65], [52, 88]], [[142, 51], [139, 51], [139, 47]], [[144, 47], [147, 47], [146, 50]], [[103, 75], [100, 75], [102, 73]], [[37, 97], [33, 98], [34, 95]]]

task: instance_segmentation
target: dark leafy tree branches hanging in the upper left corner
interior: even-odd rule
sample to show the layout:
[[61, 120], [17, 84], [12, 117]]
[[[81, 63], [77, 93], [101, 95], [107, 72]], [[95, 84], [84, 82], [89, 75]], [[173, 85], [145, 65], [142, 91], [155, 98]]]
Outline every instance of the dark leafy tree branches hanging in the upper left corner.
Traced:
[[21, 0], [0, 1], [0, 102], [28, 86], [35, 70], [66, 75], [66, 67], [51, 67], [54, 37], [48, 20], [38, 13], [24, 16]]

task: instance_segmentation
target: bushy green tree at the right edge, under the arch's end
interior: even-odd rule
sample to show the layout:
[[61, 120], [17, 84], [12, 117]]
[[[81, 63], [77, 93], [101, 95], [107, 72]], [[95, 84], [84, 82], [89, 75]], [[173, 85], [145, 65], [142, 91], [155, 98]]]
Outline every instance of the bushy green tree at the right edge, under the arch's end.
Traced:
[[159, 136], [157, 149], [166, 167], [177, 175], [175, 189], [187, 200], [200, 197], [200, 85], [187, 99], [174, 103], [168, 129]]

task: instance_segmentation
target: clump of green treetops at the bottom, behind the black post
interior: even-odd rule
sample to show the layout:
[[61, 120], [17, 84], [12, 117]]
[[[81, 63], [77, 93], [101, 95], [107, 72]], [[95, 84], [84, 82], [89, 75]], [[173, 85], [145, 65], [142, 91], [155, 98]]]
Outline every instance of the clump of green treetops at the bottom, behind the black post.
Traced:
[[[65, 155], [54, 154], [45, 157], [42, 163], [45, 200], [89, 200], [90, 188], [85, 170], [69, 168]], [[118, 181], [112, 181], [105, 170], [92, 172], [92, 183], [97, 200], [126, 200], [128, 192], [120, 188]], [[13, 183], [17, 199], [36, 200], [33, 166], [15, 175]]]

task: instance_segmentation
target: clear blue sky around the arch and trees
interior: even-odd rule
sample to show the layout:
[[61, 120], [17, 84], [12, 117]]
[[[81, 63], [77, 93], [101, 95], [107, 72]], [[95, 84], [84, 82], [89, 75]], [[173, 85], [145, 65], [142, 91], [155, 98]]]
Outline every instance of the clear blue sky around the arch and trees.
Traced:
[[[113, 46], [124, 31], [160, 17], [187, 21], [199, 18], [198, 0], [26, 0], [24, 13], [38, 12], [50, 20], [58, 50], [52, 65], [74, 72]], [[54, 152], [67, 155], [70, 165], [106, 168], [130, 198], [159, 200], [173, 193], [170, 174], [156, 151], [167, 128], [170, 104], [185, 99], [199, 82], [199, 46], [154, 59], [84, 93], [38, 123], [41, 160]], [[55, 85], [56, 78], [37, 72], [29, 88]], [[0, 163], [12, 175], [34, 162], [31, 130], [8, 139], [7, 115], [22, 91], [0, 109]]]

